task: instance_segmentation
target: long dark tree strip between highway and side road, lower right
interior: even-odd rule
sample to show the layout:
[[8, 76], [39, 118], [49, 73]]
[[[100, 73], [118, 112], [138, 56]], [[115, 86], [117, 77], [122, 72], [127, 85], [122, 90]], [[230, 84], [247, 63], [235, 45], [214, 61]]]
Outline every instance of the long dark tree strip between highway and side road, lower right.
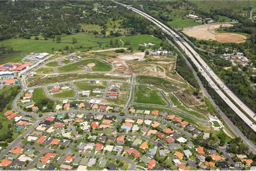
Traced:
[[256, 141], [256, 134], [251, 129], [250, 126], [248, 126], [244, 120], [242, 120], [227, 104], [225, 101], [223, 101], [222, 98], [215, 92], [214, 89], [212, 89], [208, 82], [205, 80], [205, 78], [198, 73], [198, 76], [200, 77], [200, 80], [202, 81], [204, 87], [214, 100], [214, 102], [219, 106], [219, 108], [225, 113], [225, 115], [232, 121], [232, 123], [238, 127], [238, 129], [248, 138], [253, 141]]

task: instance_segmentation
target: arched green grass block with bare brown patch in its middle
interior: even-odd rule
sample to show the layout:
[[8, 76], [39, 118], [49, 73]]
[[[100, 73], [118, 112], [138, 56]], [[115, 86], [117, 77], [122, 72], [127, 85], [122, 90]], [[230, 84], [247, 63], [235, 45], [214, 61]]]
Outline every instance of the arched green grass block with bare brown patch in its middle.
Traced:
[[73, 71], [77, 71], [77, 70], [85, 70], [85, 68], [81, 68], [81, 67], [79, 67], [79, 65], [86, 66], [89, 63], [95, 63], [95, 66], [92, 67], [92, 69], [91, 69], [94, 71], [109, 71], [112, 69], [112, 67], [106, 62], [99, 61], [96, 59], [87, 59], [87, 60], [82, 60], [79, 62], [71, 63], [70, 65], [66, 65], [63, 67], [59, 67], [58, 70], [60, 73], [73, 72]]

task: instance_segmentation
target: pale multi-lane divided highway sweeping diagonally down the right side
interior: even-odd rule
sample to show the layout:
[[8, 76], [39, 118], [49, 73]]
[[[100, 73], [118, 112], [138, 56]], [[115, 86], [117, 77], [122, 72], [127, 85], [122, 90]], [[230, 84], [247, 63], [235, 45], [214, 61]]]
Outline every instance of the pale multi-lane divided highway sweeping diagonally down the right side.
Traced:
[[[218, 76], [210, 69], [210, 67], [207, 66], [204, 60], [201, 59], [198, 53], [194, 51], [194, 49], [185, 40], [183, 40], [176, 32], [171, 30], [169, 27], [159, 22], [157, 19], [154, 19], [153, 17], [147, 15], [145, 12], [139, 11], [135, 8], [132, 8], [131, 6], [127, 6], [121, 3], [117, 3], [117, 4], [123, 5], [126, 8], [131, 9], [134, 12], [137, 12], [139, 15], [142, 15], [143, 17], [149, 19], [152, 23], [160, 27], [161, 30], [163, 30], [166, 34], [169, 34], [174, 39], [174, 41], [176, 41], [176, 43], [180, 46], [180, 48], [183, 49], [183, 51], [187, 54], [188, 58], [191, 59], [194, 65], [196, 65], [199, 72], [205, 77], [207, 82], [211, 83], [212, 88], [217, 92], [217, 94], [227, 103], [228, 106], [230, 106], [230, 108], [235, 113], [237, 113], [237, 115], [242, 120], [244, 120], [244, 122], [248, 126], [251, 127], [251, 129], [254, 132], [256, 132], [255, 124], [232, 101], [237, 103], [240, 106], [240, 108], [242, 108], [254, 120], [255, 120], [255, 117], [254, 117], [255, 113], [250, 108], [248, 108], [248, 106], [246, 106], [237, 96], [235, 96], [231, 90], [229, 90], [226, 87], [226, 85], [218, 78]], [[218, 84], [218, 86], [221, 87], [221, 89], [225, 91], [226, 94], [228, 94], [232, 98], [232, 101], [226, 96], [226, 94], [224, 94], [224, 92], [217, 86], [217, 84], [215, 84], [214, 81]]]

